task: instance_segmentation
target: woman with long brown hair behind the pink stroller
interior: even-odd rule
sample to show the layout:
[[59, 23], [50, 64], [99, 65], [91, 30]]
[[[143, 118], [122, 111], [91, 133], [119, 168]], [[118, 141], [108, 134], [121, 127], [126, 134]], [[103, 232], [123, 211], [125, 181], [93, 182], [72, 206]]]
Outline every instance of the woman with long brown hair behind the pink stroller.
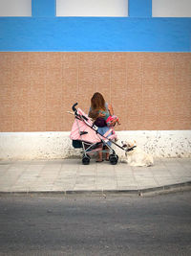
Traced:
[[[114, 116], [112, 105], [108, 105], [99, 92], [96, 92], [91, 99], [89, 117], [95, 121], [95, 125], [98, 127], [98, 132], [101, 135], [104, 135], [111, 127], [114, 127], [116, 124], [119, 125], [117, 116]], [[107, 144], [110, 146], [111, 142], [108, 141]], [[109, 152], [106, 152], [106, 160], [109, 160]], [[98, 159], [96, 162], [102, 161], [102, 151], [98, 151]]]

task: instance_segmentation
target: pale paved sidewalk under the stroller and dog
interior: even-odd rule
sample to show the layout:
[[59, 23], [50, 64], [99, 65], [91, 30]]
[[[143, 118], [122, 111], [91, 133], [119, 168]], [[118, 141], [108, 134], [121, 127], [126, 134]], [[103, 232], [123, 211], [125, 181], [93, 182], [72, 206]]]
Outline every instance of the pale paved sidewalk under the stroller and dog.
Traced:
[[130, 167], [81, 159], [0, 161], [0, 193], [141, 194], [191, 188], [191, 158], [155, 159], [153, 167]]

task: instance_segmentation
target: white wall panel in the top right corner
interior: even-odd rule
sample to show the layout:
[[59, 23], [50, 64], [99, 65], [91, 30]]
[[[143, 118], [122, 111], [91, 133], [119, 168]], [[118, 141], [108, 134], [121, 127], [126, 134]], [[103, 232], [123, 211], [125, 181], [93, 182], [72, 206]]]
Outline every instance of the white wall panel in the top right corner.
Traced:
[[153, 17], [191, 17], [191, 0], [152, 0]]

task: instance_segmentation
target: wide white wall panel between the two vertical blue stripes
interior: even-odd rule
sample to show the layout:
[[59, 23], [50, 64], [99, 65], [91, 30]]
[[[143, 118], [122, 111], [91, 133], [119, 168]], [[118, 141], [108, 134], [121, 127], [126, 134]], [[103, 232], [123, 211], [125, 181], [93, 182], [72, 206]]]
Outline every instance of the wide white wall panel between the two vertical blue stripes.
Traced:
[[127, 16], [128, 0], [56, 0], [57, 16]]

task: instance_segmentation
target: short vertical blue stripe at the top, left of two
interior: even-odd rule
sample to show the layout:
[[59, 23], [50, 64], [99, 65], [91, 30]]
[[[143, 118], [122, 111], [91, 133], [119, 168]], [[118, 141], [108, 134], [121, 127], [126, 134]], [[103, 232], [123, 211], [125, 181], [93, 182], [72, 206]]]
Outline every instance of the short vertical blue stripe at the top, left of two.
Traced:
[[32, 17], [54, 17], [56, 0], [32, 0]]

